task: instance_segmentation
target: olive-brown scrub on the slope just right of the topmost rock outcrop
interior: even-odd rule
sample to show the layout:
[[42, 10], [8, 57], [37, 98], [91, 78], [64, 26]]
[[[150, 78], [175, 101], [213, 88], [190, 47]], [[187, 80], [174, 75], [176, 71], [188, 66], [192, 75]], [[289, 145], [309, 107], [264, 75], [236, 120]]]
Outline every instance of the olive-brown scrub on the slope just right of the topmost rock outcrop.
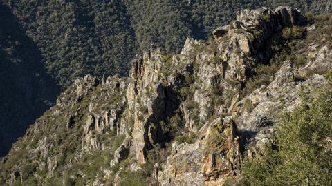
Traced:
[[[295, 69], [301, 68], [308, 61], [314, 59], [310, 54], [311, 45], [322, 47], [324, 45], [332, 45], [332, 15], [325, 14], [313, 17], [312, 14], [307, 14], [308, 23], [315, 25], [311, 32], [306, 32], [304, 28], [284, 28], [282, 33], [275, 35], [271, 42], [272, 57], [268, 63], [261, 63], [252, 72], [252, 77], [246, 82], [241, 96], [250, 94], [253, 90], [261, 87], [261, 85], [269, 85], [279, 70], [280, 66], [286, 60], [293, 62]], [[310, 21], [311, 20], [311, 21]], [[324, 74], [326, 70], [322, 70], [319, 74]], [[313, 72], [315, 73], [315, 72]], [[239, 82], [237, 82], [239, 83]]]

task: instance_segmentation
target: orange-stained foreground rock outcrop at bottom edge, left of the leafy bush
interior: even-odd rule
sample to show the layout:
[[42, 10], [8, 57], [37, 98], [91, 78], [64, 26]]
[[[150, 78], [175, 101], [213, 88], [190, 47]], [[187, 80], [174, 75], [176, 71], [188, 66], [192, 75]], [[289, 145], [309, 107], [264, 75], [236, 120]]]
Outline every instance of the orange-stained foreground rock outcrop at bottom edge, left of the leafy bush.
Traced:
[[222, 185], [228, 176], [239, 174], [241, 145], [233, 118], [216, 118], [203, 131], [194, 144], [173, 144], [158, 174], [161, 185]]

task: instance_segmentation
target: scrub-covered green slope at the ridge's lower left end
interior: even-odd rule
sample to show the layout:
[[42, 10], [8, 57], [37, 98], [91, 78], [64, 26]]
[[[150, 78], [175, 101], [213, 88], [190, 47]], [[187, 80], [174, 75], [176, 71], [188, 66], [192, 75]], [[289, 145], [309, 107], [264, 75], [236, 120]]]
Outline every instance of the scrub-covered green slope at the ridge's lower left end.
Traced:
[[[17, 180], [14, 183], [16, 185], [58, 185], [57, 183], [62, 182], [66, 185], [86, 185], [96, 177], [104, 177], [103, 170], [110, 168], [110, 161], [124, 141], [124, 135], [117, 135], [116, 131], [111, 129], [104, 129], [102, 134], [91, 131], [91, 138], [105, 147], [84, 150], [81, 148], [86, 137], [84, 125], [91, 101], [94, 101], [94, 109], [98, 112], [111, 110], [115, 104], [114, 99], [118, 99], [116, 102], [120, 106], [120, 95], [109, 93], [110, 91], [101, 85], [95, 85], [91, 87], [89, 94], [77, 100], [76, 90], [73, 88], [75, 85], [68, 87], [62, 94], [62, 103], [68, 107], [55, 106], [45, 112], [35, 123], [38, 127], [30, 127], [26, 136], [15, 143], [13, 150], [18, 151], [12, 153], [9, 160], [5, 158], [0, 166], [0, 185], [6, 185], [3, 181], [8, 178], [11, 169], [20, 172], [21, 174], [18, 173], [16, 176], [23, 179], [22, 183], [21, 180]], [[111, 96], [112, 99], [107, 96]], [[107, 101], [95, 102], [95, 97]], [[62, 109], [65, 109], [65, 112], [59, 111]], [[55, 110], [59, 114], [54, 114]], [[29, 154], [28, 149], [36, 150], [37, 153]], [[19, 158], [25, 161], [17, 165]], [[46, 178], [50, 174], [51, 178]], [[111, 183], [112, 180], [103, 181]]]

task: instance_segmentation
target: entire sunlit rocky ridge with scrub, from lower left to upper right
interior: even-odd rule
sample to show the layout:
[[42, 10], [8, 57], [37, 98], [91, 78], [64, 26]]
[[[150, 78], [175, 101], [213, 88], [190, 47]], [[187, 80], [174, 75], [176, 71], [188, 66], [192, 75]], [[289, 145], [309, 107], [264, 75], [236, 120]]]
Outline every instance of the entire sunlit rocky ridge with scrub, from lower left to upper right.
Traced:
[[[243, 10], [211, 41], [188, 38], [181, 54], [151, 46], [127, 78], [77, 79], [3, 158], [0, 183], [241, 180], [243, 159], [273, 135], [278, 114], [331, 86], [331, 40], [317, 29], [293, 8]], [[310, 58], [299, 63], [292, 55], [303, 51]]]

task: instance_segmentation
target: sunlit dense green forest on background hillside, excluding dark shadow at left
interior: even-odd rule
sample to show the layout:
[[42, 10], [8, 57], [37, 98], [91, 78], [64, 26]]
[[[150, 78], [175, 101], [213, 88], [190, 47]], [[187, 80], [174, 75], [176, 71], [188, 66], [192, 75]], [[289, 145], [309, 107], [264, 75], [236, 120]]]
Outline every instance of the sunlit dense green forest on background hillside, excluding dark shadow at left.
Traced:
[[186, 37], [207, 39], [239, 10], [294, 6], [329, 12], [329, 1], [85, 1], [4, 0], [21, 29], [37, 45], [41, 61], [59, 85], [77, 76], [127, 75], [130, 61], [151, 44], [179, 52]]

